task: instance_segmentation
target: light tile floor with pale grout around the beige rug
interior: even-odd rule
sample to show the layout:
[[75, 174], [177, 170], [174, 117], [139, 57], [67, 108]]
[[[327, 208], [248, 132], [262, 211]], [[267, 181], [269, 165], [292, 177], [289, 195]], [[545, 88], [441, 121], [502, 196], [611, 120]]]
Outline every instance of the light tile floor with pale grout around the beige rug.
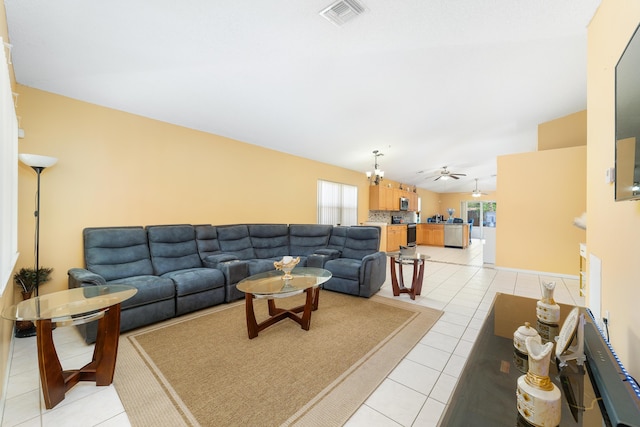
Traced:
[[[406, 294], [396, 298], [444, 314], [351, 417], [349, 427], [438, 425], [496, 292], [539, 298], [542, 280], [554, 280], [558, 302], [584, 305], [577, 278], [483, 266], [480, 240], [465, 250], [421, 246], [419, 251], [431, 256], [422, 295], [415, 301]], [[379, 295], [394, 298], [389, 277]], [[75, 328], [57, 328], [54, 339], [64, 369], [90, 361], [93, 346], [85, 345]], [[35, 338], [15, 339], [0, 425], [131, 425], [113, 385], [81, 382], [51, 410], [44, 409], [39, 385]]]

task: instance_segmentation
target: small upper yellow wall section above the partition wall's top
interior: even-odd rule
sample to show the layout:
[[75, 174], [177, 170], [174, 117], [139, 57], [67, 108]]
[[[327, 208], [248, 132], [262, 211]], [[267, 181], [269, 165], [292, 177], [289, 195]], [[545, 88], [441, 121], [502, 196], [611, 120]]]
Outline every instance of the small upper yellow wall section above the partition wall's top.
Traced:
[[587, 144], [587, 111], [538, 125], [538, 150], [576, 147]]

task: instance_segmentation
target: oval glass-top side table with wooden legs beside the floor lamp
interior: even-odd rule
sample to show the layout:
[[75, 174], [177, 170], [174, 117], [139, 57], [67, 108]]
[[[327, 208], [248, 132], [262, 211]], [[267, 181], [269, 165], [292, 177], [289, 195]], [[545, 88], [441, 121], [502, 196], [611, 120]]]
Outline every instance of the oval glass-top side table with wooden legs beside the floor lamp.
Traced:
[[[22, 301], [2, 312], [5, 319], [30, 320], [36, 325], [40, 382], [47, 409], [64, 400], [67, 390], [79, 381], [95, 381], [98, 386], [113, 382], [120, 338], [120, 303], [137, 291], [124, 285], [67, 289]], [[92, 361], [80, 369], [62, 370], [53, 343], [53, 325], [94, 320], [98, 320], [98, 336]]]

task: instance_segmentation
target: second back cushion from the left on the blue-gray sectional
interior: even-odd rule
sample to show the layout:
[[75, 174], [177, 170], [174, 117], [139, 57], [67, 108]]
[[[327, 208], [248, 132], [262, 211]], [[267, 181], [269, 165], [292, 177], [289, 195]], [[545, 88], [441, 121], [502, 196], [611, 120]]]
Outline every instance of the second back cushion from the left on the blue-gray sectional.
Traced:
[[192, 225], [149, 226], [147, 234], [156, 274], [202, 267]]

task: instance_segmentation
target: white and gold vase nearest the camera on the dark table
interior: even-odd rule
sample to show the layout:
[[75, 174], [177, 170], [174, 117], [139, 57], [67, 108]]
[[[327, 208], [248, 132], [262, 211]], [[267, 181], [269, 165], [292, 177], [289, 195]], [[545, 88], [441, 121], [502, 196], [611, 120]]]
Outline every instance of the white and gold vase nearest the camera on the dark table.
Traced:
[[549, 378], [553, 343], [542, 344], [540, 337], [536, 336], [527, 337], [525, 345], [529, 354], [529, 369], [518, 378], [518, 412], [534, 426], [557, 426], [562, 415], [562, 394]]

